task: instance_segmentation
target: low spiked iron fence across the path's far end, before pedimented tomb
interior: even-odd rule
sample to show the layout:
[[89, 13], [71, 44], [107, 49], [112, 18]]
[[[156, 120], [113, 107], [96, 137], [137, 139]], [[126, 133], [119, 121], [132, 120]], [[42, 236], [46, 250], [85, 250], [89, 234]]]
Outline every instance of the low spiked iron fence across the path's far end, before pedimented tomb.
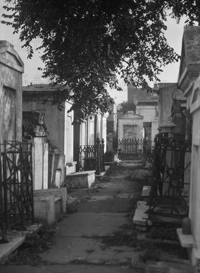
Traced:
[[141, 155], [152, 153], [151, 140], [142, 138], [122, 138], [118, 140], [119, 155]]

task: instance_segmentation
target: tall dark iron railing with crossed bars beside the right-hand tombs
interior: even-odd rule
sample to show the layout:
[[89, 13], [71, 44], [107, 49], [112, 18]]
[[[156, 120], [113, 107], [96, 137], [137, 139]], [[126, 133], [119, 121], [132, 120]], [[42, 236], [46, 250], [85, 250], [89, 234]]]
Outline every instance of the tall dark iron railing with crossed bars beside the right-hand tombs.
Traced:
[[177, 205], [181, 202], [186, 208], [185, 215], [188, 215], [189, 206], [183, 194], [185, 185], [189, 184], [185, 182], [184, 174], [191, 164], [191, 160], [185, 160], [187, 153], [191, 153], [191, 141], [168, 137], [166, 133], [156, 136], [149, 215], [155, 213], [157, 205], [162, 205], [163, 198], [168, 198], [170, 211], [162, 214], [180, 216]]

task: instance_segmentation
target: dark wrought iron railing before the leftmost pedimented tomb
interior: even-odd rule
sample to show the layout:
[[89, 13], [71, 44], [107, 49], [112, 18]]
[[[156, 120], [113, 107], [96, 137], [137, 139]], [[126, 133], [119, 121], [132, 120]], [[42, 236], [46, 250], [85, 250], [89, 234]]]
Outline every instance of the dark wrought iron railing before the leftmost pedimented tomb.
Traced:
[[5, 141], [0, 144], [1, 242], [13, 225], [34, 221], [33, 209], [32, 144]]

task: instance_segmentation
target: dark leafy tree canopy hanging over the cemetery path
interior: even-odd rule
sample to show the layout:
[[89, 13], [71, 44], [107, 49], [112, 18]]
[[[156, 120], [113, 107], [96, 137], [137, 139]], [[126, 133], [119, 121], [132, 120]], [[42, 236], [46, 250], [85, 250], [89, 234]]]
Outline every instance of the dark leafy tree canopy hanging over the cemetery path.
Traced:
[[151, 91], [145, 78], [159, 81], [161, 68], [178, 62], [180, 56], [164, 36], [169, 12], [177, 22], [187, 15], [186, 23], [200, 23], [199, 0], [6, 2], [9, 12], [1, 23], [20, 33], [28, 58], [33, 55], [31, 41], [42, 39], [38, 50], [43, 50], [43, 76], [69, 86], [62, 99], [73, 102], [70, 110], [76, 109], [78, 122], [97, 109], [110, 109], [113, 99], [106, 87], [121, 90], [117, 73], [125, 82]]

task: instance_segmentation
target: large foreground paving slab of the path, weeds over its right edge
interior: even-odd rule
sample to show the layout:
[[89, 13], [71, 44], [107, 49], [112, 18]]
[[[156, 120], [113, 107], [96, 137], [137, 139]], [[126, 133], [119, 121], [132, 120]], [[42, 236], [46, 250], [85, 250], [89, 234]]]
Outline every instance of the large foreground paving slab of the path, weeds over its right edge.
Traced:
[[[102, 251], [102, 239], [96, 238], [111, 234], [118, 227], [126, 223], [124, 213], [84, 213], [76, 212], [64, 218], [57, 224], [58, 231], [56, 234], [56, 245], [48, 252], [40, 254], [40, 257], [47, 262], [70, 263], [72, 261], [87, 261], [89, 263], [110, 263], [120, 264], [128, 262], [132, 258], [132, 251], [127, 250], [125, 253], [119, 251], [119, 257], [116, 258], [116, 250], [123, 246], [113, 246], [109, 251]], [[112, 246], [108, 246], [112, 247]], [[121, 258], [120, 258], [121, 257]]]

